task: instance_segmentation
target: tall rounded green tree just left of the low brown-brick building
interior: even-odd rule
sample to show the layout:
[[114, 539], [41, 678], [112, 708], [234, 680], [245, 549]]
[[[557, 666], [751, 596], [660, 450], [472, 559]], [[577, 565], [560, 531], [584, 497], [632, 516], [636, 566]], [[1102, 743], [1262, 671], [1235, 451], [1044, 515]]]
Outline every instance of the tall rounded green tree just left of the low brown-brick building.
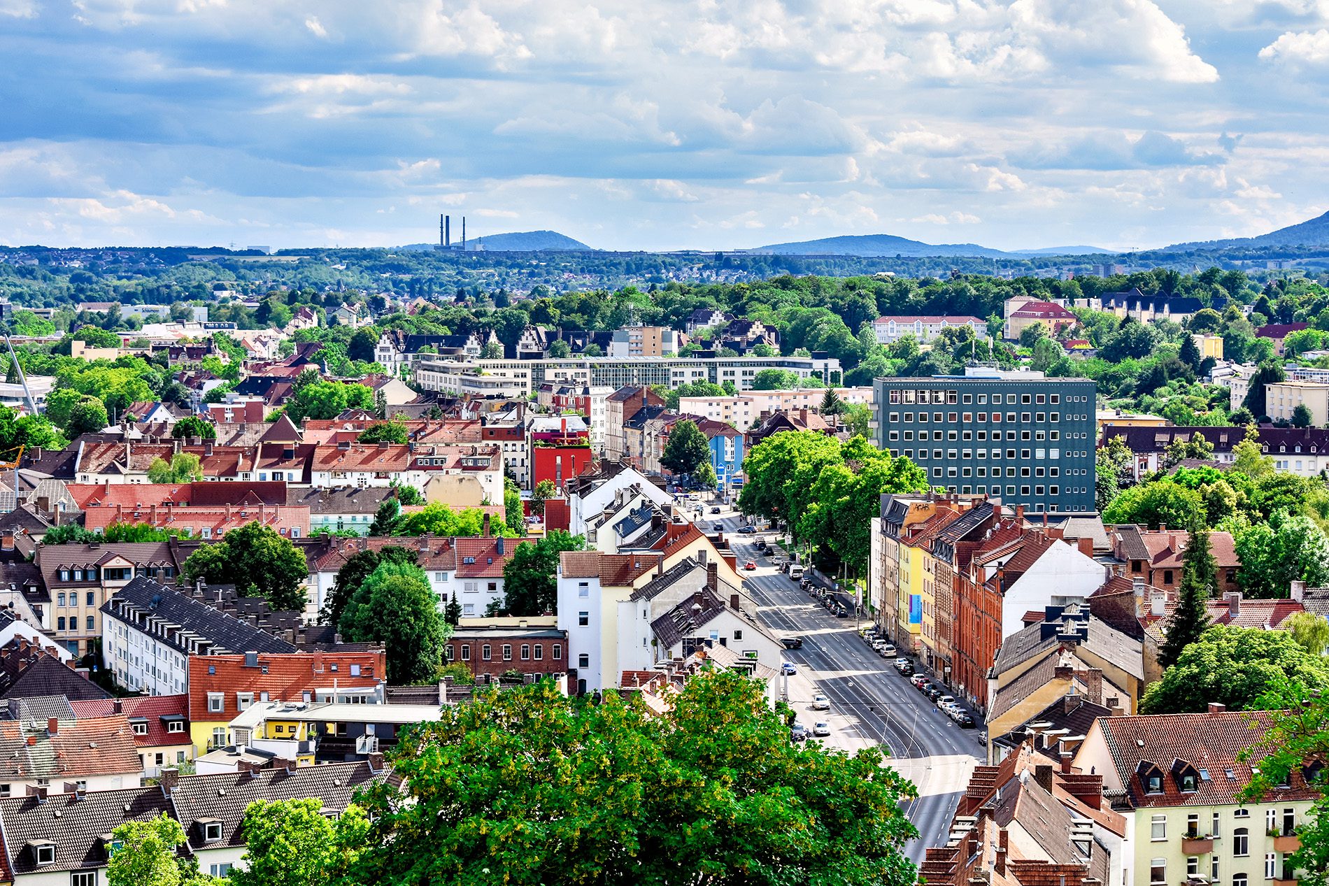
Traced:
[[338, 630], [351, 643], [383, 643], [388, 681], [399, 685], [433, 681], [449, 635], [424, 570], [395, 561], [369, 573], [347, 600]]

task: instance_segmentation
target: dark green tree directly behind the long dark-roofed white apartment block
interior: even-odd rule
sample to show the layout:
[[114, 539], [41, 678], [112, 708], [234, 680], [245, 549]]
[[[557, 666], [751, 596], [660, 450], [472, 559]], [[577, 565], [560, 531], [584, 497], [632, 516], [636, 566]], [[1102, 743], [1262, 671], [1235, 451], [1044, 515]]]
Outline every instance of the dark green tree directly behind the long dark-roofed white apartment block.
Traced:
[[235, 584], [241, 594], [262, 596], [274, 610], [303, 612], [310, 567], [291, 539], [254, 521], [190, 554], [185, 575], [190, 580]]

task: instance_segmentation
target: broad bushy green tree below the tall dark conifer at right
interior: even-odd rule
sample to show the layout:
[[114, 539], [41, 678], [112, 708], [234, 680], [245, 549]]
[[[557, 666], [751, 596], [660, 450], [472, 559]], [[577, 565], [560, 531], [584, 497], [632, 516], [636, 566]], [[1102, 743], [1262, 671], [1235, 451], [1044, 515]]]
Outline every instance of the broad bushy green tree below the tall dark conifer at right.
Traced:
[[1146, 689], [1140, 713], [1200, 713], [1209, 701], [1229, 711], [1261, 709], [1261, 696], [1284, 679], [1325, 685], [1329, 664], [1286, 631], [1211, 627]]

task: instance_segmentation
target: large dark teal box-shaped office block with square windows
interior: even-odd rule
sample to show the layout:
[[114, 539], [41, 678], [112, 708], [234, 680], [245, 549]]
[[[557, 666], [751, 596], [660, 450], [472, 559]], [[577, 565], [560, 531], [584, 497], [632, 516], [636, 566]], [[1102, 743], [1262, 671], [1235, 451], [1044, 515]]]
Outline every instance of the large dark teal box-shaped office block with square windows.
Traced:
[[1031, 511], [1094, 510], [1094, 383], [969, 372], [877, 379], [877, 445], [936, 487]]

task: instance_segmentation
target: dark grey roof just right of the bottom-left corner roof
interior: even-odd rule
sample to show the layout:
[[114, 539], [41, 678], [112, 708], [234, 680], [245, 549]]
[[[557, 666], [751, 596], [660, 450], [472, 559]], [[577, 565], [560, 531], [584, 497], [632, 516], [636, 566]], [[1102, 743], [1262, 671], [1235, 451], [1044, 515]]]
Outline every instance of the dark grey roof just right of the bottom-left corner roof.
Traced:
[[[171, 790], [177, 818], [193, 850], [218, 846], [243, 846], [241, 822], [255, 800], [303, 800], [318, 797], [323, 808], [343, 812], [356, 790], [384, 778], [368, 762], [330, 762], [320, 766], [262, 769], [255, 773], [222, 773], [186, 776]], [[225, 793], [223, 793], [225, 792]], [[201, 820], [222, 822], [221, 842], [205, 843]]]

